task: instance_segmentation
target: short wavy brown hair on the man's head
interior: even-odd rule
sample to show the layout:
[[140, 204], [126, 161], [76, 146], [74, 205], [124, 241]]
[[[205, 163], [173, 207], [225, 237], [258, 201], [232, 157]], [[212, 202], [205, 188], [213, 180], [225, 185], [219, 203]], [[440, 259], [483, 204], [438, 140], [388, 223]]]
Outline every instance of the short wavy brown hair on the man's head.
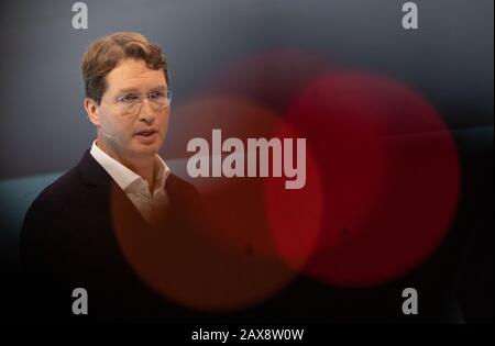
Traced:
[[107, 89], [105, 77], [124, 58], [144, 60], [151, 69], [163, 69], [168, 85], [167, 60], [162, 49], [134, 32], [117, 32], [95, 41], [82, 57], [86, 97], [100, 104]]

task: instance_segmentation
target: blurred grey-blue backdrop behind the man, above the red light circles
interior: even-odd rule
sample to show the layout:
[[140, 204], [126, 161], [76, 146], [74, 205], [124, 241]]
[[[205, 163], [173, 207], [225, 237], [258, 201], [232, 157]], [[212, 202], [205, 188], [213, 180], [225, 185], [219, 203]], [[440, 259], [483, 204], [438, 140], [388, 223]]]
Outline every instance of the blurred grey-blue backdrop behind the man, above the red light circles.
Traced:
[[402, 27], [406, 1], [397, 0], [89, 0], [87, 30], [72, 26], [74, 2], [0, 5], [0, 179], [78, 161], [95, 136], [82, 109], [81, 56], [120, 30], [164, 48], [175, 104], [223, 66], [282, 47], [403, 80], [451, 129], [493, 126], [492, 0], [416, 1], [414, 32]]

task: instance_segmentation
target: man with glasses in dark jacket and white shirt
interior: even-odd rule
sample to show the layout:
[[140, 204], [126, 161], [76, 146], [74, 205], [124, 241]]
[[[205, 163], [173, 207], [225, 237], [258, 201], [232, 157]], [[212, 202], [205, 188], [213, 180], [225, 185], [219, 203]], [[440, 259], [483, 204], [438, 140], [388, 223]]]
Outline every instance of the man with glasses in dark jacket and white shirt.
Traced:
[[45, 315], [73, 315], [72, 292], [84, 288], [92, 316], [153, 316], [157, 297], [119, 242], [164, 225], [184, 232], [198, 199], [157, 154], [170, 113], [166, 58], [143, 35], [118, 32], [91, 44], [82, 77], [97, 138], [25, 215], [26, 288]]

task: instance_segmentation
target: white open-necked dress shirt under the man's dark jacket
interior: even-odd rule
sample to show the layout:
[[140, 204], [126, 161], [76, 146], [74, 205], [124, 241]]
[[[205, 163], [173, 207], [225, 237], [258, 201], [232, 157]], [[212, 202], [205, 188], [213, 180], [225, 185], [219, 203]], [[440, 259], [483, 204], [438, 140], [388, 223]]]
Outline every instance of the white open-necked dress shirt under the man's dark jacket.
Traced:
[[144, 220], [153, 224], [154, 215], [163, 213], [169, 202], [165, 191], [165, 181], [170, 169], [160, 155], [155, 156], [155, 185], [152, 193], [145, 179], [100, 149], [97, 141], [92, 143], [89, 153], [125, 192]]

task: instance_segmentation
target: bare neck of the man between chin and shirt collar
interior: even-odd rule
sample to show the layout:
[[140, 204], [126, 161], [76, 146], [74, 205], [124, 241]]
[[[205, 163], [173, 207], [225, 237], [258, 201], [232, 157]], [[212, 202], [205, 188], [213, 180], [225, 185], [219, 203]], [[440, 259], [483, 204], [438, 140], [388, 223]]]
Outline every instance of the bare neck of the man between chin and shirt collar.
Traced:
[[147, 181], [147, 185], [150, 187], [150, 191], [153, 191], [154, 183], [155, 183], [155, 156], [154, 155], [147, 155], [140, 158], [133, 158], [128, 157], [119, 153], [118, 150], [114, 150], [111, 145], [108, 145], [105, 143], [105, 141], [101, 141], [101, 138], [97, 138], [97, 146], [103, 150], [106, 154], [108, 154], [111, 158], [114, 160], [121, 163], [129, 169], [131, 169], [133, 172], [139, 175], [141, 178]]

